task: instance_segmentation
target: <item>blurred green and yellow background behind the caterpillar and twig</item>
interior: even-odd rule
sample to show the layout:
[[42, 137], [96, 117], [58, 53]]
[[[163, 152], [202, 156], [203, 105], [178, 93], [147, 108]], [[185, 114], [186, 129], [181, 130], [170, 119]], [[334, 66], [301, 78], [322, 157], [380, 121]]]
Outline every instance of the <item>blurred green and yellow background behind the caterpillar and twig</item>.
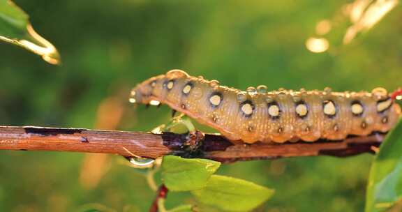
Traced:
[[[343, 45], [352, 1], [15, 2], [63, 64], [0, 43], [2, 125], [151, 130], [169, 121], [168, 107], [135, 107], [128, 93], [173, 68], [239, 89], [401, 86], [401, 6]], [[332, 28], [320, 36], [322, 20]], [[329, 49], [307, 50], [311, 37], [328, 39]], [[276, 189], [256, 211], [363, 211], [372, 160], [364, 154], [237, 162], [218, 174]], [[0, 211], [80, 211], [94, 203], [147, 211], [153, 198], [144, 176], [119, 156], [0, 152]], [[168, 208], [181, 202], [193, 199], [171, 193]]]

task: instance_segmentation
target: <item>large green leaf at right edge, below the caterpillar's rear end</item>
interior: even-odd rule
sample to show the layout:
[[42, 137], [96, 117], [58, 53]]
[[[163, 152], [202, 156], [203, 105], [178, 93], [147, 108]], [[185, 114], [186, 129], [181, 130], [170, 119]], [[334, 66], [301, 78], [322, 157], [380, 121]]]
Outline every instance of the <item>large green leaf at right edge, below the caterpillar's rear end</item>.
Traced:
[[402, 119], [389, 132], [371, 166], [366, 212], [385, 211], [402, 198]]

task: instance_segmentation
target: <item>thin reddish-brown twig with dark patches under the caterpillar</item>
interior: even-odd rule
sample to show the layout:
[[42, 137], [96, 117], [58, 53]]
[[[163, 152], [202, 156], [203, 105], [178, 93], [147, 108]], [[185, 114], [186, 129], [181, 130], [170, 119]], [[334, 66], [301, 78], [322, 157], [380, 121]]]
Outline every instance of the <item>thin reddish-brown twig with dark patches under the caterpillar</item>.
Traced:
[[[200, 135], [200, 136], [198, 136]], [[209, 158], [222, 162], [298, 156], [352, 156], [373, 153], [383, 134], [348, 137], [343, 141], [319, 140], [285, 144], [233, 144], [220, 135], [188, 137], [172, 133], [87, 130], [77, 128], [40, 128], [0, 126], [0, 149], [29, 151], [74, 151], [112, 153], [125, 157], [158, 158], [166, 154]], [[202, 135], [202, 136], [201, 136]], [[189, 142], [195, 139], [195, 142]]]

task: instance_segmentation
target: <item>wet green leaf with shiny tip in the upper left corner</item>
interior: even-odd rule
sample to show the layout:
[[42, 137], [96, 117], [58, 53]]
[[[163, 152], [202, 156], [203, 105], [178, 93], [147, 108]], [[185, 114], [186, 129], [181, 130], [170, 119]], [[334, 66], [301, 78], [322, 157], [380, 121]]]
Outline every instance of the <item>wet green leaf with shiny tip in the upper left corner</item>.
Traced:
[[0, 40], [34, 52], [48, 63], [60, 63], [56, 48], [34, 31], [27, 13], [12, 1], [0, 0]]

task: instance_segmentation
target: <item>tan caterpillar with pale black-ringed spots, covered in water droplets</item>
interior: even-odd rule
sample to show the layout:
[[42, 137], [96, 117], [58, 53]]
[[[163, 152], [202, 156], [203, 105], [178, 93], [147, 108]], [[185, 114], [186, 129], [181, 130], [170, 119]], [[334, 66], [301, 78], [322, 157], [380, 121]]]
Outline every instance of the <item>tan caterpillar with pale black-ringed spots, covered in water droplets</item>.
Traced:
[[131, 91], [131, 102], [165, 103], [232, 141], [246, 143], [340, 140], [387, 132], [401, 114], [401, 107], [382, 88], [371, 93], [328, 88], [268, 92], [266, 86], [240, 91], [182, 70], [170, 70], [138, 84]]

